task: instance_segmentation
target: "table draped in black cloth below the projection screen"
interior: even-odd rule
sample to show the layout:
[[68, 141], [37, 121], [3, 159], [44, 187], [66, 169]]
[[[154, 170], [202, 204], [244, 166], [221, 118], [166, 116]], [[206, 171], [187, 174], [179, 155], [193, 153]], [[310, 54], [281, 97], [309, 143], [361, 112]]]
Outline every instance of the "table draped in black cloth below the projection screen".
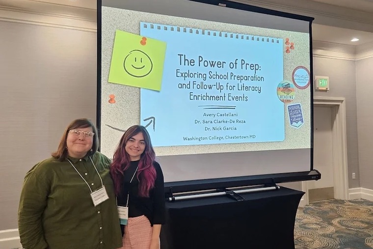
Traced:
[[213, 196], [166, 202], [161, 249], [293, 249], [301, 191]]

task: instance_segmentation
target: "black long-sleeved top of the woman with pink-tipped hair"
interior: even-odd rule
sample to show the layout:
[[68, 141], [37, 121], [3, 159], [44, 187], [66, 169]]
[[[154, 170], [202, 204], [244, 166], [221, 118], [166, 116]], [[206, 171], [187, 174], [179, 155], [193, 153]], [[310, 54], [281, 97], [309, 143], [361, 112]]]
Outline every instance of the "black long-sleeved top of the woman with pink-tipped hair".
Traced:
[[[153, 166], [156, 169], [157, 177], [155, 186], [149, 192], [149, 197], [140, 197], [138, 195], [138, 179], [137, 173], [133, 177], [133, 174], [138, 166], [139, 161], [133, 161], [130, 163], [129, 168], [124, 171], [122, 189], [117, 197], [118, 206], [126, 206], [127, 194], [129, 194], [128, 201], [128, 216], [137, 217], [145, 215], [151, 225], [153, 224], [164, 224], [165, 223], [165, 196], [164, 196], [164, 180], [163, 173], [160, 165], [157, 162], [153, 162]], [[130, 183], [133, 177], [132, 183]]]

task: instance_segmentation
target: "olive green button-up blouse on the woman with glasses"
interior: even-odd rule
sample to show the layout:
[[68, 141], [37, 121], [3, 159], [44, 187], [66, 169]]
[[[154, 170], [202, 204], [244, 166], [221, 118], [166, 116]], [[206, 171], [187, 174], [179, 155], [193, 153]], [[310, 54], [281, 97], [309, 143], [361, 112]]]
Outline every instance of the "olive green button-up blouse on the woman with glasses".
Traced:
[[[110, 160], [91, 156], [109, 199], [94, 206], [90, 190], [66, 160], [46, 159], [27, 172], [18, 211], [18, 229], [25, 249], [116, 249], [122, 247]], [[101, 180], [88, 156], [69, 158], [92, 191]]]

